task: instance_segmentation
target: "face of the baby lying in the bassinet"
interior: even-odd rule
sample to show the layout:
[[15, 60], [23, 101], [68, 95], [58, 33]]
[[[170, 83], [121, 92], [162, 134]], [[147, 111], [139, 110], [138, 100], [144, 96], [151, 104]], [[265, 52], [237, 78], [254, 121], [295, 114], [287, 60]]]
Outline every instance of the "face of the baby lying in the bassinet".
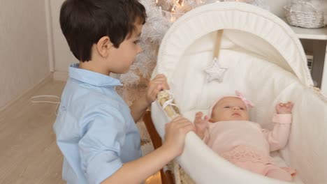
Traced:
[[249, 120], [249, 113], [245, 103], [236, 97], [225, 97], [219, 100], [212, 109], [210, 121], [233, 121], [233, 120]]

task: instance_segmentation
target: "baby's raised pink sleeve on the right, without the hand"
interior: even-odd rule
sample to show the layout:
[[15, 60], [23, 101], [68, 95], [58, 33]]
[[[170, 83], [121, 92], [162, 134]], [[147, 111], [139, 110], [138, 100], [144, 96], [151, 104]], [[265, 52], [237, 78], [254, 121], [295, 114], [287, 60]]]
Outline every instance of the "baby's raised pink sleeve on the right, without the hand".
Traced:
[[292, 114], [275, 114], [273, 123], [276, 123], [272, 131], [263, 129], [270, 151], [276, 151], [286, 146], [291, 130]]

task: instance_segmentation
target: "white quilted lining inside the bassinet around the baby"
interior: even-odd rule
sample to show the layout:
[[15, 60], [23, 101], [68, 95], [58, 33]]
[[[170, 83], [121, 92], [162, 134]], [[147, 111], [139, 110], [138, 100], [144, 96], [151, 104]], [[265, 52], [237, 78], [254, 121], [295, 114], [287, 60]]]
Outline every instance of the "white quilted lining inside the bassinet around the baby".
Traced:
[[[271, 118], [275, 113], [277, 102], [291, 100], [295, 107], [293, 108], [289, 144], [281, 151], [280, 157], [277, 156], [276, 159], [279, 160], [280, 164], [287, 164], [289, 167], [297, 169], [296, 183], [326, 183], [327, 177], [324, 174], [327, 169], [324, 157], [327, 155], [326, 102], [323, 102], [312, 89], [298, 82], [298, 79], [290, 72], [286, 72], [273, 63], [232, 50], [221, 51], [221, 63], [229, 68], [224, 82], [207, 84], [203, 82], [205, 74], [201, 72], [203, 69], [201, 66], [204, 67], [206, 64], [204, 61], [198, 60], [199, 58], [204, 60], [205, 54], [203, 52], [196, 54], [196, 56], [184, 56], [184, 60], [187, 62], [182, 60], [178, 63], [180, 69], [175, 70], [173, 74], [173, 83], [170, 86], [173, 91], [177, 92], [174, 93], [175, 100], [182, 114], [193, 121], [196, 112], [208, 112], [208, 107], [220, 95], [233, 94], [235, 89], [238, 89], [255, 104], [255, 107], [250, 110], [252, 121], [260, 123], [263, 128], [271, 129], [273, 128]], [[163, 119], [161, 116], [164, 113], [162, 110], [160, 112], [160, 109], [158, 112], [158, 109], [155, 105], [152, 107], [152, 118], [157, 130], [163, 136], [164, 123], [160, 123], [159, 119]], [[167, 121], [168, 119], [164, 122]], [[161, 130], [158, 129], [158, 124], [160, 124]], [[191, 174], [198, 183], [210, 183], [212, 180], [238, 183], [249, 178], [254, 181], [253, 183], [281, 183], [256, 175], [252, 176], [252, 174], [240, 175], [240, 172], [245, 171], [239, 171], [229, 163], [219, 160], [220, 158], [215, 153], [211, 153], [211, 150], [198, 151], [199, 149], [206, 150], [205, 147], [207, 146], [203, 146], [203, 142], [197, 139], [196, 135], [188, 135], [188, 146], [185, 147], [179, 160], [184, 170]], [[217, 160], [217, 162], [213, 160]], [[219, 169], [212, 164], [215, 164]], [[230, 169], [230, 178], [226, 178], [226, 173], [221, 171], [222, 168], [224, 170]], [[201, 170], [200, 173], [199, 169]], [[212, 169], [215, 171], [214, 176], [211, 175]], [[210, 176], [207, 176], [206, 170], [210, 171]], [[233, 177], [233, 174], [238, 178]], [[204, 176], [210, 178], [210, 181], [207, 178], [204, 179]]]

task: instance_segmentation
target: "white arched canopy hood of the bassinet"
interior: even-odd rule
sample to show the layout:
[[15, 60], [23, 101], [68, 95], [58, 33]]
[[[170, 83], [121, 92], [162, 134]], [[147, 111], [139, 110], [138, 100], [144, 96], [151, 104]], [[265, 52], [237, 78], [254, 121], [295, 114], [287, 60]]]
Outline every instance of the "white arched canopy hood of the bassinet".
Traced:
[[[293, 72], [306, 86], [313, 85], [303, 47], [289, 25], [266, 10], [247, 3], [210, 3], [183, 15], [162, 40], [158, 72], [169, 78], [192, 43], [219, 29], [224, 29], [224, 36], [242, 48], [265, 56], [270, 62]], [[244, 36], [244, 32], [253, 36]], [[212, 47], [207, 45], [203, 49]], [[221, 49], [226, 47], [228, 45], [223, 44]]]

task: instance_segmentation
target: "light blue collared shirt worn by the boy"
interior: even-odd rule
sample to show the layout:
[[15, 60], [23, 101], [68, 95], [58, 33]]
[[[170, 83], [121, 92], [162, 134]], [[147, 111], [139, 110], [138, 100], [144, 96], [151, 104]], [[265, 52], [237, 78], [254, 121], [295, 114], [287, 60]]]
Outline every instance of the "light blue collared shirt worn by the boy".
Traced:
[[140, 158], [140, 134], [129, 107], [115, 91], [118, 79], [69, 68], [54, 132], [64, 154], [68, 183], [101, 183], [124, 162]]

